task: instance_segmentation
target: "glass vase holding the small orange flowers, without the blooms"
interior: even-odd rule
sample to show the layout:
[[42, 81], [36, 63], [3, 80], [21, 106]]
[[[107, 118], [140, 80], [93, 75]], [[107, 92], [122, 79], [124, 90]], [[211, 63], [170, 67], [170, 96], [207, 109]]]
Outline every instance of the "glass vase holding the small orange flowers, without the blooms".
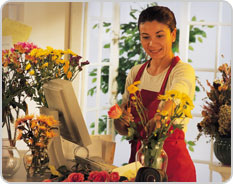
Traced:
[[28, 150], [23, 156], [27, 177], [43, 176], [48, 169], [49, 157], [46, 149]]

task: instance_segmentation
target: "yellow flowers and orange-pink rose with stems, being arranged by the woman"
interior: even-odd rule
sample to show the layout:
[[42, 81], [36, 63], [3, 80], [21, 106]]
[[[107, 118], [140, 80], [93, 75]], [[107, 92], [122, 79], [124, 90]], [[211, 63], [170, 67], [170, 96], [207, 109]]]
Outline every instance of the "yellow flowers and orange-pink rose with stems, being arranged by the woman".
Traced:
[[[127, 111], [130, 112], [131, 107], [134, 107], [140, 117], [140, 122], [130, 122], [126, 139], [141, 140], [143, 145], [146, 145], [146, 149], [142, 150], [142, 153], [145, 155], [144, 165], [155, 168], [155, 165], [157, 164], [156, 158], [161, 154], [165, 139], [172, 134], [176, 128], [183, 128], [181, 123], [176, 124], [175, 121], [186, 117], [192, 118], [191, 110], [194, 108], [194, 105], [192, 100], [186, 94], [176, 90], [167, 91], [165, 95], [159, 95], [159, 100], [163, 102], [173, 101], [176, 105], [170, 116], [168, 116], [167, 111], [157, 110], [157, 113], [161, 118], [159, 121], [156, 121], [155, 129], [150, 132], [147, 127], [149, 121], [148, 112], [142, 103], [141, 94], [137, 87], [139, 83], [140, 81], [136, 81], [127, 88], [131, 97]], [[119, 106], [116, 104], [110, 108], [108, 115], [111, 119], [122, 119], [125, 115], [124, 112], [125, 111], [119, 110]], [[139, 126], [144, 130], [143, 136], [138, 132]]]

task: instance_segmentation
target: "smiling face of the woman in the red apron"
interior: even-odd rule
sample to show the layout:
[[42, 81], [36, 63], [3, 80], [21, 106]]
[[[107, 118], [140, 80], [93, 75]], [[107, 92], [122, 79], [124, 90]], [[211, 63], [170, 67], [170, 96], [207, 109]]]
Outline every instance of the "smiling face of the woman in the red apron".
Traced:
[[176, 29], [171, 32], [166, 24], [157, 21], [141, 23], [139, 29], [142, 47], [152, 59], [162, 59], [172, 55], [172, 42], [176, 40]]

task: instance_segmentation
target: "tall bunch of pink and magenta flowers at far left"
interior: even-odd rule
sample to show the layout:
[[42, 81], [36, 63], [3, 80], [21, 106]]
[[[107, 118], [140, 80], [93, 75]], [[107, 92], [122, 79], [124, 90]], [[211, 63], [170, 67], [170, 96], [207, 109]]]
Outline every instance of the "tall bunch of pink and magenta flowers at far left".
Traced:
[[[15, 133], [11, 134], [10, 124], [14, 122], [20, 110], [27, 111], [27, 96], [32, 96], [29, 83], [30, 74], [26, 70], [30, 52], [37, 48], [32, 43], [19, 42], [10, 50], [2, 51], [2, 127], [6, 126], [11, 146], [15, 146]], [[31, 59], [31, 58], [30, 58]]]

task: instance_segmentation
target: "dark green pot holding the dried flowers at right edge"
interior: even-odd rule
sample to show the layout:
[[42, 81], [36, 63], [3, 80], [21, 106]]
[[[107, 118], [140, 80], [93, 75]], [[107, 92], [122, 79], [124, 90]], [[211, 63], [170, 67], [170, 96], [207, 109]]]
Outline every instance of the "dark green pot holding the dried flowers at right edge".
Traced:
[[231, 138], [217, 138], [214, 142], [214, 154], [223, 165], [231, 165]]

